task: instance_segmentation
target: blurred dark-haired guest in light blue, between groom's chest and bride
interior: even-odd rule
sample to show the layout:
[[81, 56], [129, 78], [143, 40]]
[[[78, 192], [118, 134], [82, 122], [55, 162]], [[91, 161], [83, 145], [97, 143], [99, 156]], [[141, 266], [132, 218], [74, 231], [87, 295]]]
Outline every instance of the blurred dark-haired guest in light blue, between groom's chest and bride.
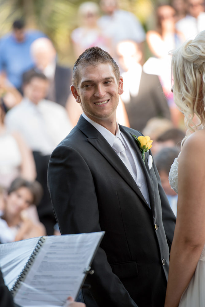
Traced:
[[160, 175], [162, 188], [167, 195], [169, 204], [175, 216], [177, 211], [177, 194], [171, 188], [168, 177], [172, 163], [174, 162], [174, 159], [178, 157], [179, 153], [180, 150], [177, 148], [164, 147], [154, 156], [154, 161]]

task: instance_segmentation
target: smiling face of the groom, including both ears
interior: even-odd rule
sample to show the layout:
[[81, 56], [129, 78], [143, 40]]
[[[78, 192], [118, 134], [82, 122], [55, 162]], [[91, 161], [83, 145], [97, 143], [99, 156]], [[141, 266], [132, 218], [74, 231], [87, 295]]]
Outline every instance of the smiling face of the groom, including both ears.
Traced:
[[123, 82], [122, 77], [116, 79], [112, 66], [108, 63], [83, 66], [78, 81], [78, 89], [71, 90], [83, 112], [102, 125], [105, 119], [115, 120]]

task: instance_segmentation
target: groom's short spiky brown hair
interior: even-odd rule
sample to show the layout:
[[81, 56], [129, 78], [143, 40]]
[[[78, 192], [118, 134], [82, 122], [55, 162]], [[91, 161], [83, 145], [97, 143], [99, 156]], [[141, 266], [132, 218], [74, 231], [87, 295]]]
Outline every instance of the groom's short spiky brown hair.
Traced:
[[117, 81], [120, 79], [120, 70], [118, 64], [112, 56], [100, 47], [91, 47], [86, 49], [77, 59], [73, 67], [72, 84], [77, 89], [79, 82], [80, 68], [87, 65], [111, 64]]

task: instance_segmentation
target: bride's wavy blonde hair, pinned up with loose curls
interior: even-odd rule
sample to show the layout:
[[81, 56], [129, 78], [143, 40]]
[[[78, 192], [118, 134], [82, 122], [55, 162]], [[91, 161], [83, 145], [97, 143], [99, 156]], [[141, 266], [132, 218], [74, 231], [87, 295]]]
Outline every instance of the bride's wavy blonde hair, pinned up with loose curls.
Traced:
[[[205, 31], [172, 52], [172, 75], [174, 101], [190, 134], [205, 124]], [[194, 115], [199, 119], [197, 124]]]

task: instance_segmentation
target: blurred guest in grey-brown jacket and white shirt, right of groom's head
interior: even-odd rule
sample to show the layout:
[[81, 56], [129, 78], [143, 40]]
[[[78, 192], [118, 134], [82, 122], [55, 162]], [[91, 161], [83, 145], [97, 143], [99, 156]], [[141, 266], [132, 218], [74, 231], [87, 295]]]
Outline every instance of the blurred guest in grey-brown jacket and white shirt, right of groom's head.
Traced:
[[130, 127], [142, 131], [150, 118], [170, 119], [170, 111], [157, 75], [146, 74], [140, 64], [142, 52], [134, 41], [121, 41], [116, 58], [124, 80], [124, 102]]

